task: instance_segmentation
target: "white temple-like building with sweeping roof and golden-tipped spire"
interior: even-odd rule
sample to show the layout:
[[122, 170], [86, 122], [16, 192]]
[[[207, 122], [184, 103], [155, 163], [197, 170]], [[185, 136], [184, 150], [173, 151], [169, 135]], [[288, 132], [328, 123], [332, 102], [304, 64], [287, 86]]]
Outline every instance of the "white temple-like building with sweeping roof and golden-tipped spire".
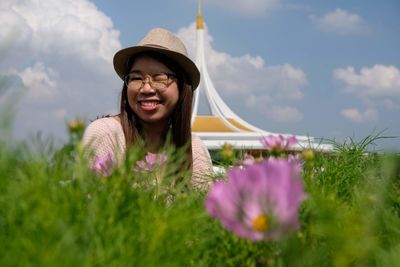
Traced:
[[[262, 137], [279, 134], [285, 137], [293, 136], [293, 134], [287, 133], [268, 132], [249, 124], [236, 115], [222, 100], [207, 70], [201, 0], [198, 3], [196, 65], [200, 70], [201, 80], [194, 95], [192, 132], [202, 139], [208, 149], [218, 149], [225, 143], [229, 143], [236, 149], [262, 150], [264, 149], [260, 142]], [[205, 94], [210, 115], [198, 115], [200, 92]], [[332, 149], [331, 145], [317, 143], [310, 136], [296, 135], [296, 138], [299, 144], [293, 148], [295, 150], [302, 150], [304, 148], [314, 148], [317, 150]]]

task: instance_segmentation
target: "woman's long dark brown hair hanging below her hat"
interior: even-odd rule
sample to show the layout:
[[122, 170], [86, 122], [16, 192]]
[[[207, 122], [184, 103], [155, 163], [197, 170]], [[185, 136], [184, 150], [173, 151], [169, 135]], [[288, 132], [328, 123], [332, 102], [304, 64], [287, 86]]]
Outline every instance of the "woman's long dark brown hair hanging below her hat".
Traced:
[[[191, 115], [193, 90], [186, 73], [170, 58], [156, 52], [143, 52], [128, 60], [126, 71], [128, 73], [135, 58], [140, 55], [152, 57], [175, 72], [178, 76], [179, 98], [175, 109], [170, 115], [171, 122], [171, 141], [176, 149], [186, 148], [186, 155], [189, 163], [189, 168], [192, 168], [192, 135], [191, 135]], [[128, 102], [128, 88], [124, 83], [121, 92], [120, 102], [120, 120], [124, 131], [126, 147], [129, 149], [142, 138], [140, 136], [141, 125], [138, 116], [131, 109]], [[166, 140], [164, 140], [165, 142]]]

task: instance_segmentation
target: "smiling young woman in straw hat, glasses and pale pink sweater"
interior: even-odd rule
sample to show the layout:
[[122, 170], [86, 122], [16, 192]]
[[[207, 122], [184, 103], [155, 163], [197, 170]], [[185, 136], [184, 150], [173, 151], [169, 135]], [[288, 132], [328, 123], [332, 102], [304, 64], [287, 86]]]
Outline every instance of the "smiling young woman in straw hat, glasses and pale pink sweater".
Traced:
[[97, 119], [86, 129], [83, 143], [93, 151], [91, 164], [110, 155], [121, 162], [126, 150], [139, 142], [147, 152], [162, 153], [171, 140], [177, 149], [186, 149], [193, 187], [207, 188], [210, 155], [192, 136], [190, 122], [200, 73], [182, 41], [165, 29], [152, 29], [136, 46], [115, 54], [114, 69], [124, 81], [120, 114]]

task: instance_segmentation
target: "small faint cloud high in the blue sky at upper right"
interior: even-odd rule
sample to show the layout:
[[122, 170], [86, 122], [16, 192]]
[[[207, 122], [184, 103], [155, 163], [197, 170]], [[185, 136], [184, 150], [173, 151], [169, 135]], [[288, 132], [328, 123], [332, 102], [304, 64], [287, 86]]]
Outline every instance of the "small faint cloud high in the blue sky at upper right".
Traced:
[[313, 24], [321, 31], [339, 34], [360, 34], [367, 31], [367, 25], [360, 15], [337, 8], [322, 17], [311, 15]]

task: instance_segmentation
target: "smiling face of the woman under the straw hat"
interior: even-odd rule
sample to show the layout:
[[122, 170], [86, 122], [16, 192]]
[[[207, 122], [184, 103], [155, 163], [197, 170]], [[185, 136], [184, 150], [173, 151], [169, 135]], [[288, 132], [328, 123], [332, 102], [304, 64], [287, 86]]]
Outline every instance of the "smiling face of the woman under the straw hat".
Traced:
[[174, 74], [172, 70], [161, 61], [142, 55], [135, 58], [130, 73], [134, 74], [133, 79], [143, 78], [145, 81], [140, 89], [128, 86], [128, 103], [133, 112], [145, 124], [168, 124], [179, 99], [177, 80], [172, 79], [166, 88], [157, 90], [150, 85], [149, 76], [155, 77], [155, 74], [160, 73]]

